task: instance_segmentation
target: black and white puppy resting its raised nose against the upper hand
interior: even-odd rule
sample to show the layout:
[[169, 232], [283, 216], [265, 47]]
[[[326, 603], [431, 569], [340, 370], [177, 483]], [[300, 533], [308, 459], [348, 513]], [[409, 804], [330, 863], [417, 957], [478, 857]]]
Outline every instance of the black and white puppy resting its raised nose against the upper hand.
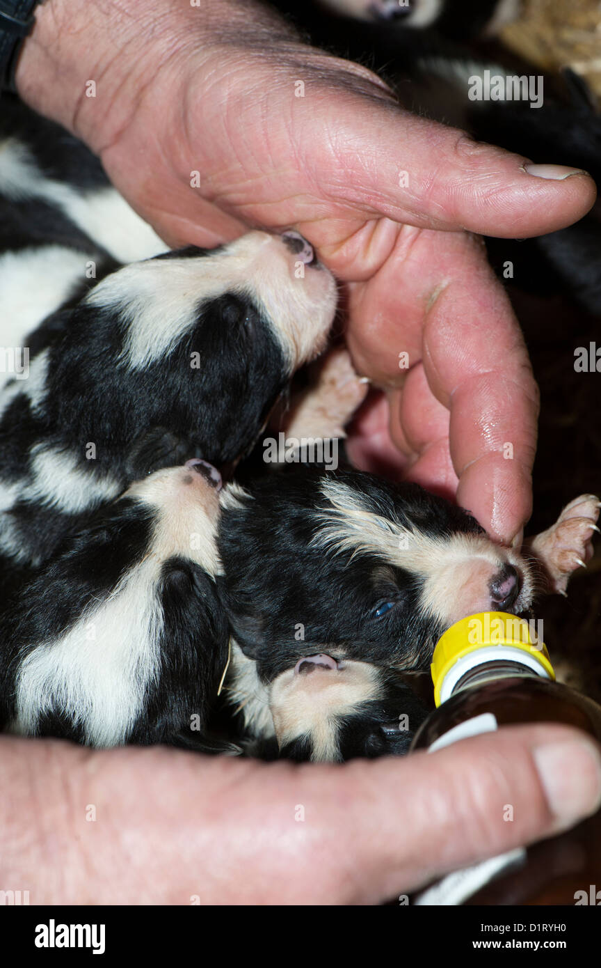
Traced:
[[[302, 271], [300, 271], [300, 269]], [[336, 301], [296, 233], [132, 263], [15, 345], [0, 395], [0, 550], [40, 561], [149, 470], [249, 448]]]

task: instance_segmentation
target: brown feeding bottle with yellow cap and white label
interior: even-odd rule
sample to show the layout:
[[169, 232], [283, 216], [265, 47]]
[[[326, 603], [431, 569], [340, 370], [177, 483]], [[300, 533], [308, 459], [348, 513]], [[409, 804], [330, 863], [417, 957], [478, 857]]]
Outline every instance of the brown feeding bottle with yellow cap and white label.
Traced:
[[[601, 741], [601, 707], [555, 681], [547, 649], [524, 619], [482, 612], [455, 622], [431, 671], [438, 708], [412, 752], [516, 723], [565, 723]], [[601, 810], [570, 831], [448, 874], [412, 903], [601, 905]]]

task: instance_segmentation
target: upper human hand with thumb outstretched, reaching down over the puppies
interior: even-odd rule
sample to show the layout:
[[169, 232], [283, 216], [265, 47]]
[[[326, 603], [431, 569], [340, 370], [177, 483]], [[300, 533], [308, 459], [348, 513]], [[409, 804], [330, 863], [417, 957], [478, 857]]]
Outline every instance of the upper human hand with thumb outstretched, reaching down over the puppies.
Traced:
[[349, 347], [386, 392], [356, 421], [355, 463], [456, 493], [494, 538], [519, 534], [537, 390], [472, 233], [577, 221], [595, 197], [587, 174], [535, 177], [526, 159], [402, 110], [379, 78], [300, 45], [258, 4], [48, 0], [37, 19], [21, 94], [100, 154], [167, 241], [295, 227], [348, 284]]

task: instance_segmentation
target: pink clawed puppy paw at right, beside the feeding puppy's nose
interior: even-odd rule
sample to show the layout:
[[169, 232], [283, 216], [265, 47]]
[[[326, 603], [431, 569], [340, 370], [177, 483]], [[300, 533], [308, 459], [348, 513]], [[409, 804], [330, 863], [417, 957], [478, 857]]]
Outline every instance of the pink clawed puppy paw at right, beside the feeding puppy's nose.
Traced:
[[572, 573], [587, 567], [593, 554], [593, 532], [599, 530], [600, 507], [595, 495], [581, 495], [563, 508], [555, 525], [527, 543], [543, 566], [549, 591], [564, 595]]

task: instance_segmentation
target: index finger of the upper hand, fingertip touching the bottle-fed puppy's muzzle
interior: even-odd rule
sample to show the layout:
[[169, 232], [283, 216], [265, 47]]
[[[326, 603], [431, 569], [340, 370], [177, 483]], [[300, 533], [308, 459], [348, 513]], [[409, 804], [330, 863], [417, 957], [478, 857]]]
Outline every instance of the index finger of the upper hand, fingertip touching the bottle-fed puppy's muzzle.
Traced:
[[[529, 518], [538, 391], [504, 291], [466, 258], [427, 315], [423, 363], [450, 410], [457, 499], [489, 534], [510, 543]], [[478, 287], [477, 302], [470, 291]]]

